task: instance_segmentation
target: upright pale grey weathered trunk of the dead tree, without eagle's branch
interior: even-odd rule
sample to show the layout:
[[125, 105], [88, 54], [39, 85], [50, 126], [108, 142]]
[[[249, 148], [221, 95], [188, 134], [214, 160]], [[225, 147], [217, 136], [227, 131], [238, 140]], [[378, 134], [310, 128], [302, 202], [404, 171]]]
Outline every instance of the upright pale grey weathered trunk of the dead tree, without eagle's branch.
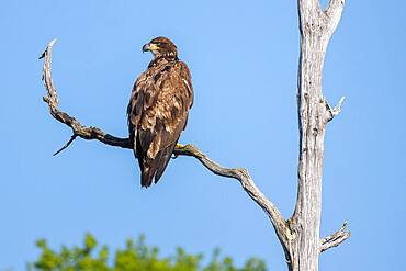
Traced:
[[[290, 242], [290, 270], [318, 270], [319, 252], [330, 246], [319, 239], [324, 136], [327, 123], [339, 113], [343, 98], [336, 109], [328, 105], [322, 93], [322, 74], [327, 44], [340, 21], [343, 4], [343, 0], [330, 0], [323, 11], [318, 0], [298, 0], [300, 158], [296, 208], [289, 219], [292, 234], [296, 236]], [[341, 230], [340, 238], [348, 236]]]

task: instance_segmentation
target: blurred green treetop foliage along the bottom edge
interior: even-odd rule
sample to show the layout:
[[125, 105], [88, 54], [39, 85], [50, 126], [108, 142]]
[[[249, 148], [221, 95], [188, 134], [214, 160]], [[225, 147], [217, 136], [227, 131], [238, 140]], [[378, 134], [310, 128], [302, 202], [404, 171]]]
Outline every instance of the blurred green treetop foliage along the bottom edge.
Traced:
[[106, 246], [97, 248], [94, 237], [87, 234], [83, 247], [71, 249], [63, 246], [60, 252], [48, 248], [46, 240], [41, 239], [36, 246], [42, 249], [40, 259], [27, 264], [29, 271], [264, 271], [263, 261], [251, 258], [243, 268], [235, 268], [229, 257], [221, 258], [215, 249], [206, 267], [202, 266], [203, 255], [191, 256], [177, 249], [174, 257], [158, 257], [158, 248], [145, 245], [144, 236], [136, 242], [128, 239], [124, 249], [109, 259]]

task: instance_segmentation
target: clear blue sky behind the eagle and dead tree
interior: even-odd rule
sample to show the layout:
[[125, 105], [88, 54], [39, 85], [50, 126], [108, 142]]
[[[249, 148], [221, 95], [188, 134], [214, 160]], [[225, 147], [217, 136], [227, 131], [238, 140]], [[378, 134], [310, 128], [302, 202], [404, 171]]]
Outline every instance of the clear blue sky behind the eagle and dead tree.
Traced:
[[[196, 160], [169, 163], [139, 185], [131, 150], [77, 139], [42, 101], [48, 42], [59, 108], [82, 125], [126, 137], [126, 105], [165, 35], [192, 72], [195, 102], [181, 143], [247, 168], [285, 218], [296, 200], [296, 1], [5, 1], [0, 4], [0, 270], [23, 270], [92, 233], [117, 248], [145, 234], [161, 255], [219, 247], [237, 263], [255, 256], [286, 270], [262, 212], [235, 180]], [[326, 7], [327, 1], [322, 1]], [[324, 94], [345, 95], [325, 138], [320, 236], [345, 221], [352, 236], [320, 256], [320, 270], [405, 270], [406, 2], [347, 1], [330, 39]]]

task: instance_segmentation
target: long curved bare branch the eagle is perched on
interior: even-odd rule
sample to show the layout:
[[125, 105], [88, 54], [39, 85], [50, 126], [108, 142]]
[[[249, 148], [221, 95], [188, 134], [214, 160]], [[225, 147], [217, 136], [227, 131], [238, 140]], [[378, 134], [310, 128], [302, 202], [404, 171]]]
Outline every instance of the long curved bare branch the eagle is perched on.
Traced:
[[[74, 135], [70, 138], [70, 140], [54, 155], [57, 155], [58, 153], [67, 148], [78, 136], [84, 139], [97, 139], [106, 145], [131, 149], [132, 147], [128, 138], [119, 138], [112, 136], [97, 127], [87, 128], [86, 126], [82, 126], [75, 117], [71, 117], [67, 113], [59, 111], [58, 98], [54, 87], [53, 77], [50, 75], [52, 47], [55, 42], [56, 39], [52, 41], [48, 44], [45, 53], [42, 55], [42, 57], [45, 57], [43, 78], [45, 88], [48, 93], [48, 97], [44, 97], [43, 100], [46, 103], [48, 103], [50, 114], [59, 122], [68, 125], [72, 129]], [[277, 206], [271, 201], [269, 201], [267, 196], [262, 194], [262, 192], [255, 185], [251, 177], [249, 176], [246, 169], [243, 168], [229, 169], [222, 167], [217, 162], [214, 162], [211, 159], [208, 159], [205, 154], [200, 151], [193, 145], [187, 145], [184, 147], [177, 146], [174, 148], [173, 154], [177, 156], [179, 155], [192, 156], [196, 158], [204, 167], [206, 167], [213, 173], [227, 178], [237, 179], [241, 183], [241, 187], [247, 192], [247, 194], [267, 213], [277, 232], [278, 238], [280, 239], [284, 250], [287, 251], [286, 250], [287, 240], [289, 238], [292, 239], [292, 236], [290, 235], [291, 230], [287, 228], [286, 221], [283, 218]]]

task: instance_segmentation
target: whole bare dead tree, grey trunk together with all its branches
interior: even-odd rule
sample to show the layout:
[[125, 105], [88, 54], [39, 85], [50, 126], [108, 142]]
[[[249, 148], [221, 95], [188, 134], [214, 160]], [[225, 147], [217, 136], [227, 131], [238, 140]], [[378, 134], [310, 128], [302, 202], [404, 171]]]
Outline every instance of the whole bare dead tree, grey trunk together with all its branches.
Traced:
[[[318, 256], [331, 247], [336, 247], [350, 236], [345, 232], [347, 223], [331, 236], [319, 238], [322, 213], [322, 176], [324, 158], [324, 135], [326, 125], [339, 112], [343, 98], [331, 109], [322, 93], [323, 63], [328, 41], [341, 18], [345, 0], [330, 0], [323, 11], [318, 0], [298, 0], [301, 30], [301, 58], [297, 79], [297, 112], [300, 129], [298, 190], [294, 214], [285, 221], [277, 206], [255, 185], [248, 171], [243, 168], [228, 169], [212, 161], [193, 145], [177, 147], [176, 155], [192, 156], [213, 173], [238, 180], [247, 194], [269, 216], [277, 236], [285, 252], [289, 270], [316, 271]], [[82, 126], [58, 109], [58, 98], [50, 75], [52, 48], [56, 39], [50, 42], [43, 54], [44, 83], [48, 97], [44, 101], [49, 105], [50, 114], [59, 122], [68, 125], [74, 135], [60, 149], [65, 149], [77, 137], [97, 139], [111, 146], [131, 148], [128, 138], [117, 138], [97, 127]], [[41, 57], [41, 58], [42, 58]], [[58, 150], [56, 154], [58, 154]], [[55, 154], [55, 155], [56, 155]]]

